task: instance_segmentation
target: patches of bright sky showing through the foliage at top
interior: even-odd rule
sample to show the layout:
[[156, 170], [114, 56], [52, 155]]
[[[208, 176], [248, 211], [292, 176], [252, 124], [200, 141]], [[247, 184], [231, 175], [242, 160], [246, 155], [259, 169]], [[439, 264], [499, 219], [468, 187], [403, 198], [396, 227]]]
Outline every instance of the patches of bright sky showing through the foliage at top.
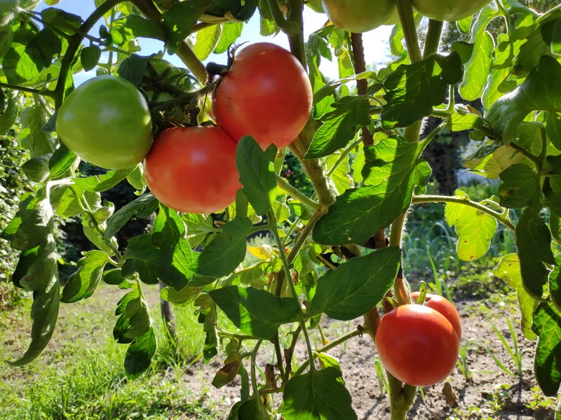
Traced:
[[[48, 8], [44, 1], [41, 1], [36, 10], [40, 11], [44, 8]], [[56, 6], [57, 8], [62, 8], [69, 13], [74, 13], [74, 15], [79, 15], [83, 19], [86, 19], [90, 13], [95, 9], [93, 0], [61, 0]], [[311, 8], [304, 8], [304, 36], [307, 38], [309, 34], [313, 31], [319, 29], [327, 21], [326, 15], [323, 13], [316, 13]], [[101, 25], [102, 21], [100, 21]], [[97, 27], [93, 29], [93, 34], [97, 35]], [[391, 27], [384, 26], [374, 29], [373, 31], [363, 34], [365, 43], [365, 56], [367, 63], [379, 62], [387, 55], [388, 45], [385, 40], [388, 39], [391, 33]], [[272, 43], [277, 43], [285, 48], [288, 48], [288, 40], [286, 36], [282, 33], [277, 36], [261, 36], [259, 34], [259, 13], [256, 12], [255, 15], [249, 20], [249, 22], [243, 28], [243, 33], [236, 43], [241, 42], [258, 42], [258, 41], [268, 41]], [[142, 48], [142, 55], [150, 55], [154, 52], [163, 50], [163, 43], [161, 41], [140, 38], [140, 47]], [[172, 62], [176, 66], [183, 66], [180, 59], [175, 56], [165, 57], [168, 61]], [[207, 61], [215, 62], [226, 62], [225, 55], [219, 56], [211, 54]], [[323, 60], [325, 62], [325, 60]], [[327, 75], [332, 77], [337, 77], [337, 64], [332, 64], [325, 62], [321, 67], [322, 71]], [[95, 70], [88, 73], [78, 74], [74, 77], [76, 85], [83, 83], [88, 78], [95, 76]]]

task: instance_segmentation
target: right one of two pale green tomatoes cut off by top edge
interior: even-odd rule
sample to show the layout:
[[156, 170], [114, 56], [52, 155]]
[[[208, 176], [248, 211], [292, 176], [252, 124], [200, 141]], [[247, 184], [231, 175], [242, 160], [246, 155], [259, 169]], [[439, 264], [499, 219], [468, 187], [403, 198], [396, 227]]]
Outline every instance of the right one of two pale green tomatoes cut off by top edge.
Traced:
[[489, 0], [412, 0], [413, 7], [421, 15], [446, 22], [467, 18], [487, 3]]

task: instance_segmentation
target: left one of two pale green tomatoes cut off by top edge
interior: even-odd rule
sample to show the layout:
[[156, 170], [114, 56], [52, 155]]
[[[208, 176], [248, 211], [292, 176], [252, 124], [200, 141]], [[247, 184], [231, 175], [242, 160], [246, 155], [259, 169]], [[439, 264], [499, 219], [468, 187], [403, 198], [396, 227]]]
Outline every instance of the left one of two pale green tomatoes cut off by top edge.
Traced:
[[323, 10], [334, 26], [345, 31], [370, 31], [387, 22], [396, 10], [394, 0], [323, 0]]

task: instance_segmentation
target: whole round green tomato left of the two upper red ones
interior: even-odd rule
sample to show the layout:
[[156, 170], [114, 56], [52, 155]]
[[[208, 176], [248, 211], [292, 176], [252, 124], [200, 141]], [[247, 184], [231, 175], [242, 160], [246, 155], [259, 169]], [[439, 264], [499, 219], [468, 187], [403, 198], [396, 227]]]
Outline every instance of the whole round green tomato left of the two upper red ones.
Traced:
[[68, 95], [56, 130], [80, 158], [106, 169], [133, 167], [152, 145], [146, 99], [128, 80], [98, 76]]

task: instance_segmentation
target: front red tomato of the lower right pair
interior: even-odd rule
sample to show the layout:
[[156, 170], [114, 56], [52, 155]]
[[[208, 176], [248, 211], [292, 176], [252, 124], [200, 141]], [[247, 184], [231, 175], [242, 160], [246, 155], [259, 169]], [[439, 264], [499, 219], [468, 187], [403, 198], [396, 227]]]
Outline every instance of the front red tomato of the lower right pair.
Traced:
[[431, 386], [454, 370], [458, 337], [438, 311], [404, 304], [382, 316], [376, 349], [382, 365], [394, 377], [414, 386]]

